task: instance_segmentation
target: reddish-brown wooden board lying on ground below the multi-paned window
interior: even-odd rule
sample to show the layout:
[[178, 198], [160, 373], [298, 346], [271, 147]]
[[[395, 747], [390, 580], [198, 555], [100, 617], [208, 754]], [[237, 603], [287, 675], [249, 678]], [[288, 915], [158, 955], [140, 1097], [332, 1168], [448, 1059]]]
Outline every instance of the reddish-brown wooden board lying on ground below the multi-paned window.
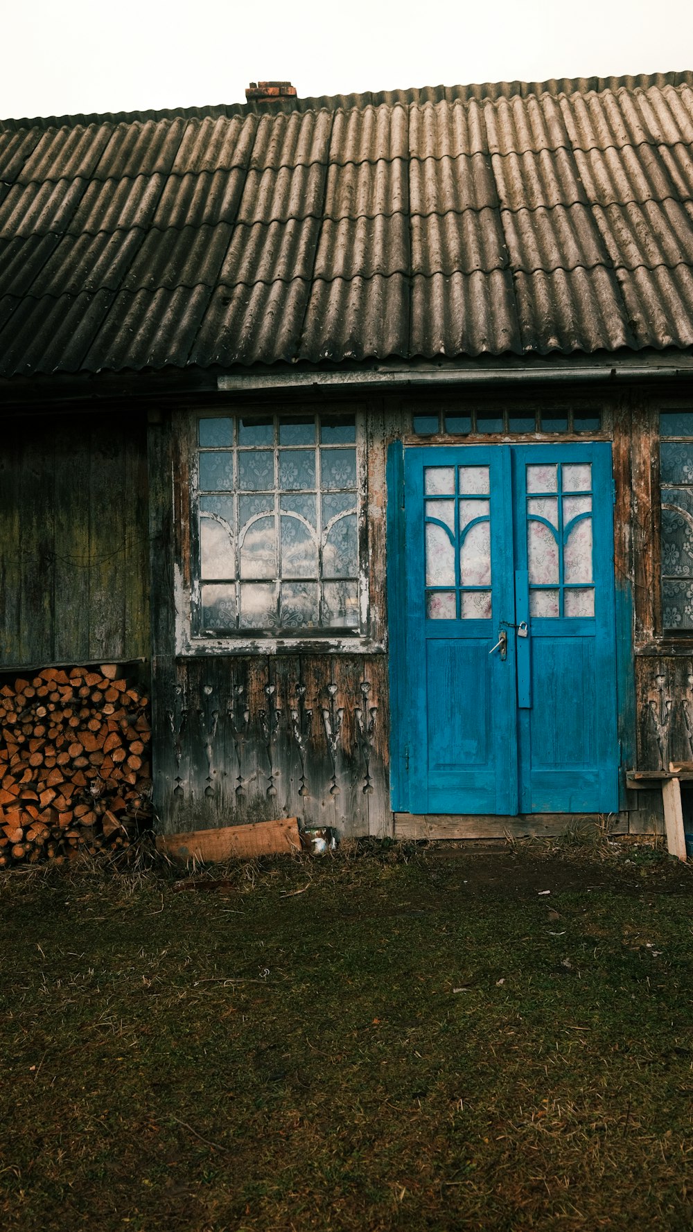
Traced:
[[223, 825], [211, 830], [190, 830], [185, 834], [158, 834], [157, 850], [180, 860], [215, 862], [256, 855], [286, 855], [301, 849], [298, 818], [282, 817], [276, 822], [252, 822], [248, 825]]

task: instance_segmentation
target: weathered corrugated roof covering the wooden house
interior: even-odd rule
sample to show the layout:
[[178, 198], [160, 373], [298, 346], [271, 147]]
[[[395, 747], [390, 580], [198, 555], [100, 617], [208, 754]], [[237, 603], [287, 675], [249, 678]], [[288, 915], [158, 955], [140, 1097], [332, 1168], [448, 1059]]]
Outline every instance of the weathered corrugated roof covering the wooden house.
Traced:
[[0, 122], [0, 373], [693, 345], [693, 74]]

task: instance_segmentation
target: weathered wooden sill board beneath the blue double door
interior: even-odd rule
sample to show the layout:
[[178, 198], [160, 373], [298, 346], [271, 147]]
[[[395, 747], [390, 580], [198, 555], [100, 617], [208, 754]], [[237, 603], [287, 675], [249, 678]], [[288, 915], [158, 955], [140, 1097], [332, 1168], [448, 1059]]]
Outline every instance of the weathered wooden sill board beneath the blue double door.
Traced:
[[[597, 825], [594, 813], [536, 813], [531, 817], [462, 817], [433, 813], [395, 813], [396, 839], [502, 839], [561, 834], [567, 825]], [[625, 829], [621, 818], [613, 818], [610, 834]]]

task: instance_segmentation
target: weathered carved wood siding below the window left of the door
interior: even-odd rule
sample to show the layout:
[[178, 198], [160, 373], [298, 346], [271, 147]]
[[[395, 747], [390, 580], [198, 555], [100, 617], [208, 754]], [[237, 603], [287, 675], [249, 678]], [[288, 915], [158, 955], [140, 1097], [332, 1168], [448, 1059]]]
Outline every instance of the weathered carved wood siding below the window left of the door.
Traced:
[[383, 655], [185, 659], [157, 695], [165, 830], [298, 817], [390, 833]]

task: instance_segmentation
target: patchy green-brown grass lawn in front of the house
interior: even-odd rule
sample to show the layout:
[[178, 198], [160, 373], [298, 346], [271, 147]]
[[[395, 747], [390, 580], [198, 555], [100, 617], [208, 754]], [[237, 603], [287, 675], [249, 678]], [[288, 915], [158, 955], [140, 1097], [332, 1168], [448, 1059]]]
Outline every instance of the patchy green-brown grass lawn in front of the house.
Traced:
[[0, 880], [5, 1232], [693, 1226], [689, 867], [219, 876]]

